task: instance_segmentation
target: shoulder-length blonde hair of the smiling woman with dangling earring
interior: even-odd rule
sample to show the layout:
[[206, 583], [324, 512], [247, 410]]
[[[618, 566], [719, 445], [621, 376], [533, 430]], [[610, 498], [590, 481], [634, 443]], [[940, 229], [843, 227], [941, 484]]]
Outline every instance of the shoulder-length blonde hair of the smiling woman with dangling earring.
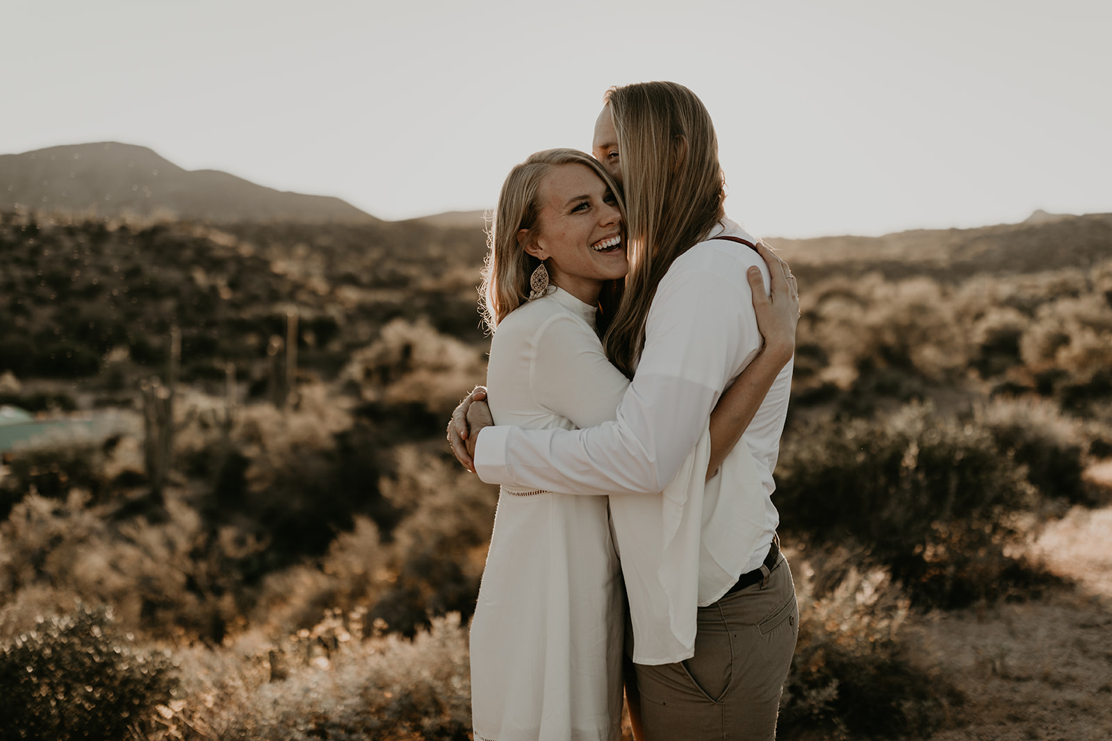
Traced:
[[[598, 160], [577, 149], [546, 149], [530, 154], [506, 176], [494, 210], [487, 234], [487, 256], [479, 288], [479, 312], [487, 329], [494, 331], [498, 322], [522, 306], [529, 297], [529, 278], [540, 261], [525, 251], [528, 239], [536, 237], [539, 228], [540, 184], [557, 164], [583, 164], [592, 169], [617, 199], [618, 212], [625, 214], [618, 188]], [[519, 240], [522, 229], [530, 233]], [[614, 316], [622, 298], [620, 281], [607, 281], [599, 297], [602, 317], [599, 328]]]

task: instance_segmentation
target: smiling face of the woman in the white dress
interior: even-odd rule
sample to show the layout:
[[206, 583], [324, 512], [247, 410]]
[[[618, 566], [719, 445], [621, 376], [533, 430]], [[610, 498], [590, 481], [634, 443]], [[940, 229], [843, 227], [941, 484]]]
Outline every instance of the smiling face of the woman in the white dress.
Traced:
[[629, 270], [614, 193], [590, 168], [573, 162], [553, 166], [538, 196], [537, 229], [525, 251], [546, 261], [552, 282], [595, 303], [604, 281]]

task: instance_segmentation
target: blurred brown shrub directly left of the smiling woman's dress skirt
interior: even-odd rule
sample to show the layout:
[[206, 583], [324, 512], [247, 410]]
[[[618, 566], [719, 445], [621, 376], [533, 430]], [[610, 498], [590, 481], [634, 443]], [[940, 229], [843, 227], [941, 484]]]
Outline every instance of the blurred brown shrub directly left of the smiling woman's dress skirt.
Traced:
[[252, 622], [291, 632], [322, 609], [366, 605], [368, 619], [413, 638], [449, 612], [475, 609], [496, 490], [418, 445], [393, 451], [378, 481], [397, 524], [364, 515], [337, 533], [319, 560], [265, 577]]

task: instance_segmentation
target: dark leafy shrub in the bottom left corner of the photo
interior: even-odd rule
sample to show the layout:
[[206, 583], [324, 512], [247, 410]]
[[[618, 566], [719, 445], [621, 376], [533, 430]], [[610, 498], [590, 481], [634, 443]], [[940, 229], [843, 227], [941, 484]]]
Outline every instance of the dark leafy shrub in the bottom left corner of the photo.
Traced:
[[110, 609], [78, 605], [0, 651], [0, 739], [128, 738], [176, 683], [168, 655], [120, 631]]

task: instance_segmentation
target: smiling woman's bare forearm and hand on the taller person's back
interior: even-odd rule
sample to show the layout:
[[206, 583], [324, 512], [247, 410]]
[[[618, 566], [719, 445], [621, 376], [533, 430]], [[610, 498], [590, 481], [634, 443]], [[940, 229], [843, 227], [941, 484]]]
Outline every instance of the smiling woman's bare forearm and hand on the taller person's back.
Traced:
[[771, 293], [765, 294], [757, 268], [749, 268], [746, 277], [753, 289], [753, 309], [757, 314], [757, 328], [764, 338], [764, 346], [711, 412], [711, 461], [706, 467], [708, 480], [741, 440], [773, 381], [795, 353], [795, 326], [800, 318], [800, 294], [795, 277], [787, 263], [764, 242], [757, 242], [757, 252], [768, 264]]

